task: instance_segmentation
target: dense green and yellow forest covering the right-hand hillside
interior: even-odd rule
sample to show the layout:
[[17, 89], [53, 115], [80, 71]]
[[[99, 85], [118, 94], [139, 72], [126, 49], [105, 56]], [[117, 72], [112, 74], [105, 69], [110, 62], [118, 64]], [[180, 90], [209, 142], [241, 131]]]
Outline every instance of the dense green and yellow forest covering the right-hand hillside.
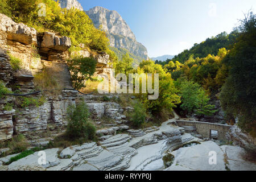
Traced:
[[[180, 114], [204, 115], [216, 112], [209, 101], [220, 100], [225, 120], [255, 136], [256, 131], [256, 16], [252, 12], [240, 20], [241, 25], [231, 34], [225, 32], [215, 38], [195, 44], [172, 60], [142, 61], [137, 69], [127, 69], [119, 61], [117, 70], [135, 73], [159, 73], [160, 93], [156, 101], [141, 100], [150, 113], [164, 115], [175, 107]], [[130, 61], [131, 62], [131, 61]], [[122, 68], [120, 68], [122, 67]]]

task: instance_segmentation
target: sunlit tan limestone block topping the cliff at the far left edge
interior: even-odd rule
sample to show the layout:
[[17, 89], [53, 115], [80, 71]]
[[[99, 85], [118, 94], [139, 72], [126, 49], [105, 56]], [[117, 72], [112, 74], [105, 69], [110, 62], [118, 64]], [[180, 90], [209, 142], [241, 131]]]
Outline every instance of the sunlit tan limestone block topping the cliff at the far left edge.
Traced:
[[7, 40], [36, 45], [35, 28], [28, 27], [23, 23], [15, 23], [3, 14], [0, 14], [0, 31], [6, 34]]

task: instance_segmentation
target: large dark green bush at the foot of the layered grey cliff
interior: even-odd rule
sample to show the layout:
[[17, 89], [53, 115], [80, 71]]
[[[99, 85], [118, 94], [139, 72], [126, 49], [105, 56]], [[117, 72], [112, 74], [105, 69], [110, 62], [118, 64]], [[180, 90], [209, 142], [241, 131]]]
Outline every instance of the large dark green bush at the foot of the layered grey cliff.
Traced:
[[69, 139], [94, 139], [96, 128], [89, 122], [89, 110], [85, 102], [68, 107], [68, 127], [66, 136]]

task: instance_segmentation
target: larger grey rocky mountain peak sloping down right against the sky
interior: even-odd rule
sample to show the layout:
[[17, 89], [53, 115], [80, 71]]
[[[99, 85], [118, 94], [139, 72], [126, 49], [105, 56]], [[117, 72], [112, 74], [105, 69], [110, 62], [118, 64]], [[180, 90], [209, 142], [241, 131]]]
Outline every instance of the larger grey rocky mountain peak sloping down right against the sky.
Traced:
[[125, 48], [137, 56], [140, 61], [148, 59], [146, 47], [137, 42], [130, 27], [117, 11], [97, 6], [85, 12], [92, 19], [96, 28], [101, 26], [102, 30], [107, 32], [111, 47]]

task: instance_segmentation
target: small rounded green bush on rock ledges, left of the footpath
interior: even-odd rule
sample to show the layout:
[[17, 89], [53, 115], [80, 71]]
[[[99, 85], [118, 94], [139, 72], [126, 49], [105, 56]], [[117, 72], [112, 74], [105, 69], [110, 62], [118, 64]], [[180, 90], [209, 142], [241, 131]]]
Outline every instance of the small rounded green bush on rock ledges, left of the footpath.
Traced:
[[134, 113], [132, 114], [132, 121], [134, 126], [141, 126], [145, 122], [147, 117], [146, 109], [141, 102], [135, 102], [134, 104]]

